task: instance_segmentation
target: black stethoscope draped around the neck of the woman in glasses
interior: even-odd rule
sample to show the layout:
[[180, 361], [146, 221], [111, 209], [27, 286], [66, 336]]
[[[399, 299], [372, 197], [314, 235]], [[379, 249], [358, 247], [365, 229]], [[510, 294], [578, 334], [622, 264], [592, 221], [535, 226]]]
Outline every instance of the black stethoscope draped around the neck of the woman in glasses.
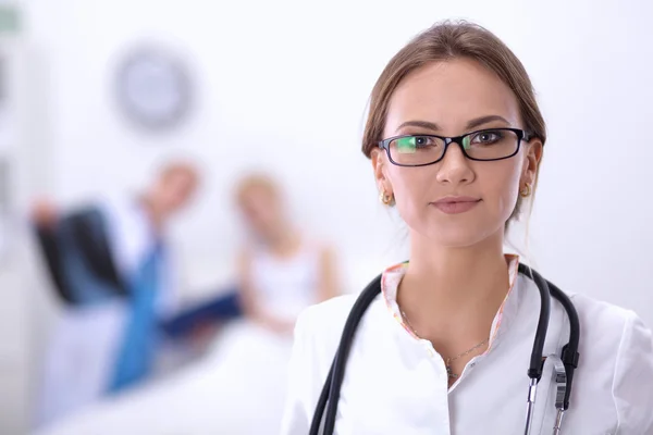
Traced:
[[[560, 426], [563, 424], [563, 417], [565, 411], [567, 411], [569, 408], [569, 396], [571, 395], [574, 371], [578, 368], [580, 322], [578, 320], [578, 313], [574, 308], [574, 303], [558, 287], [544, 279], [542, 275], [527, 265], [519, 264], [519, 273], [525, 274], [533, 279], [538, 286], [538, 289], [540, 290], [540, 297], [542, 300], [540, 307], [540, 320], [538, 322], [535, 339], [533, 341], [533, 350], [528, 369], [528, 377], [530, 382], [527, 398], [526, 428], [523, 433], [525, 435], [529, 435], [531, 433], [538, 384], [542, 377], [544, 361], [550, 359], [554, 363], [553, 373], [554, 382], [556, 384], [555, 407], [557, 409], [557, 414], [553, 427], [553, 434], [559, 435]], [[349, 355], [349, 350], [352, 349], [354, 334], [356, 333], [356, 328], [358, 327], [358, 323], [360, 323], [365, 311], [368, 309], [372, 300], [374, 300], [381, 293], [381, 276], [382, 275], [377, 276], [370, 284], [368, 284], [349, 312], [349, 316], [347, 318], [347, 322], [345, 323], [345, 327], [341, 336], [337, 351], [333, 358], [331, 369], [329, 370], [329, 375], [326, 376], [326, 381], [324, 382], [322, 393], [320, 394], [320, 398], [316, 407], [316, 412], [310, 425], [310, 435], [319, 435], [324, 410], [326, 410], [326, 418], [323, 422], [322, 435], [333, 434], [341, 386], [345, 376], [347, 357]], [[544, 341], [546, 340], [546, 331], [549, 328], [549, 316], [551, 314], [551, 296], [560, 302], [567, 312], [567, 316], [569, 318], [569, 343], [563, 347], [563, 351], [559, 357], [552, 355], [546, 358], [542, 358]]]

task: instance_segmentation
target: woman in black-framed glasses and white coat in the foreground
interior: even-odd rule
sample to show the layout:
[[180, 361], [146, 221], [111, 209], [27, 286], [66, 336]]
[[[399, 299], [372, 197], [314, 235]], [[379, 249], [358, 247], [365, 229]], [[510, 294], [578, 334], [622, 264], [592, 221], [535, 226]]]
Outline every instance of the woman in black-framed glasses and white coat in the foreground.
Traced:
[[[381, 201], [409, 227], [410, 261], [385, 270], [358, 326], [335, 433], [523, 433], [540, 293], [503, 246], [510, 220], [532, 200], [545, 140], [529, 76], [490, 32], [436, 24], [390, 61], [372, 91], [362, 152]], [[309, 432], [355, 299], [299, 318], [284, 435]], [[581, 357], [563, 433], [653, 434], [650, 330], [631, 311], [571, 300]], [[553, 300], [544, 356], [559, 355], [567, 339]], [[535, 434], [554, 426], [549, 365]]]

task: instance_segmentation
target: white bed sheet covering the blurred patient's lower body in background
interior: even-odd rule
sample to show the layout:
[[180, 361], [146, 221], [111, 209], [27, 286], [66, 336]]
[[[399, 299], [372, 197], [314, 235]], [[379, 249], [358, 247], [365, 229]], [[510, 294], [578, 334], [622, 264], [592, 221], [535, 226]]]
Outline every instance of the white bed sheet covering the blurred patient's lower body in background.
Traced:
[[37, 435], [276, 435], [292, 337], [242, 321], [200, 362]]

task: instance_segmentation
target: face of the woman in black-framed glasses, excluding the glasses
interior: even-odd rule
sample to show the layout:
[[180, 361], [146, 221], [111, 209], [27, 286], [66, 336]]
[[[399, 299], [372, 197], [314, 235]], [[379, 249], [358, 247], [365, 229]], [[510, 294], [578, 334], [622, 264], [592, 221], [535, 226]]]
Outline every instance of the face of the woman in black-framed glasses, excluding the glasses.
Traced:
[[[522, 128], [517, 98], [492, 72], [461, 59], [429, 64], [404, 78], [390, 100], [384, 138], [451, 137], [498, 127]], [[473, 161], [452, 144], [438, 163], [405, 167], [375, 149], [372, 165], [380, 188], [394, 195], [412, 234], [465, 247], [503, 235], [519, 190], [534, 181], [541, 152], [542, 144], [532, 139], [522, 141], [513, 158]], [[466, 199], [456, 204], [456, 197]]]

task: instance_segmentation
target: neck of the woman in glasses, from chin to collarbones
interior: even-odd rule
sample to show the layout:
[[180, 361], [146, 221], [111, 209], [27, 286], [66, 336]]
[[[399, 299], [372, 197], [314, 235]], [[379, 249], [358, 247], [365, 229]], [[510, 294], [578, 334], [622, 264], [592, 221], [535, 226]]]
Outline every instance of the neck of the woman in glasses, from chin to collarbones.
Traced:
[[[465, 248], [412, 237], [410, 263], [398, 293], [407, 315], [421, 323], [492, 322], [508, 290], [503, 234]], [[434, 325], [433, 325], [434, 326]]]

